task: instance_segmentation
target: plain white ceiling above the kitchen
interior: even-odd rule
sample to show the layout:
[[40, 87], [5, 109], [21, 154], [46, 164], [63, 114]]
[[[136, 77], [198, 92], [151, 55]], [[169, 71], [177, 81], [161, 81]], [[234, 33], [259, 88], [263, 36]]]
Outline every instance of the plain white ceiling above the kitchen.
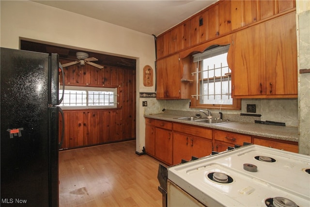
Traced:
[[156, 36], [217, 0], [34, 0]]

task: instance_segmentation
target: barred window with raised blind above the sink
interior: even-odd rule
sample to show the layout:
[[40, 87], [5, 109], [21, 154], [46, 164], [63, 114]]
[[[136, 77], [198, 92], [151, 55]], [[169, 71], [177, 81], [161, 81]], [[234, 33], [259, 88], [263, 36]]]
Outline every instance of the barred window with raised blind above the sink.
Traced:
[[192, 95], [198, 106], [233, 106], [231, 69], [227, 63], [230, 45], [212, 46], [193, 55], [196, 71], [196, 93]]

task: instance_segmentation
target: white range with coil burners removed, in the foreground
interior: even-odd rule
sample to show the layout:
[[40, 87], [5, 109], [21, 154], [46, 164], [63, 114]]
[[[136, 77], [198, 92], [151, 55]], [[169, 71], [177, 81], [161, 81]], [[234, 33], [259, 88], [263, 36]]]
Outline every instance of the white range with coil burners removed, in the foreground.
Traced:
[[169, 167], [167, 204], [310, 207], [310, 156], [253, 144]]

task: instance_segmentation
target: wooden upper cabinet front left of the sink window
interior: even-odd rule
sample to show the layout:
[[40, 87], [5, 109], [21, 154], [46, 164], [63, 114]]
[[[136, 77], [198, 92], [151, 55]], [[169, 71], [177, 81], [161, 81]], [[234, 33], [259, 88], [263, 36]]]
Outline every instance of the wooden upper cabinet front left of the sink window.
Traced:
[[157, 61], [157, 99], [180, 97], [179, 54]]

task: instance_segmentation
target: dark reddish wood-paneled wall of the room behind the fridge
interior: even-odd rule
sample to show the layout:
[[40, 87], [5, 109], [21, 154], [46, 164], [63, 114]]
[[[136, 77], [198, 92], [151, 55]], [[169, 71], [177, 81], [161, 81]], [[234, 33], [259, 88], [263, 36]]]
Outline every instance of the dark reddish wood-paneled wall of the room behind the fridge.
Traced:
[[[117, 88], [118, 105], [116, 109], [63, 110], [63, 149], [136, 138], [135, 70], [75, 64], [65, 67], [64, 73], [65, 85]], [[59, 133], [61, 137], [62, 117]]]

